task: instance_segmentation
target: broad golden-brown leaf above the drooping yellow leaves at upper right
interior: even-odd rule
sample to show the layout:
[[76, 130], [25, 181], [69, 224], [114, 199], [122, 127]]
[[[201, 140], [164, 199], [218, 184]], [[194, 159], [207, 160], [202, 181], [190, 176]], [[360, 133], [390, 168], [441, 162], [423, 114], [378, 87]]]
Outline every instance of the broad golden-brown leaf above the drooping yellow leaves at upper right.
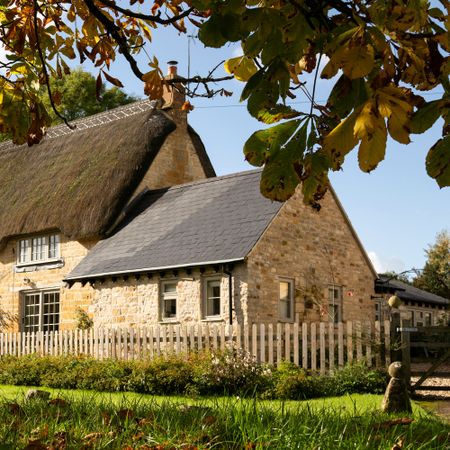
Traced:
[[[350, 39], [330, 55], [334, 65], [342, 68], [350, 79], [368, 75], [375, 64], [375, 51], [361, 39]], [[323, 77], [323, 72], [322, 72]]]

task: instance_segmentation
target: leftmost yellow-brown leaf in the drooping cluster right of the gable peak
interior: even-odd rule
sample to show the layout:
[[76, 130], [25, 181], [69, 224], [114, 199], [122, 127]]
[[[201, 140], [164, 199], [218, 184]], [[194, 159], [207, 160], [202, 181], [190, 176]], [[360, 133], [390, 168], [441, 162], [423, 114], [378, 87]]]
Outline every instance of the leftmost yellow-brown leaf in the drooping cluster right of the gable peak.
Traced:
[[358, 113], [359, 111], [354, 111], [342, 120], [323, 140], [322, 148], [333, 161], [334, 169], [340, 167], [344, 162], [345, 155], [358, 143], [353, 131]]

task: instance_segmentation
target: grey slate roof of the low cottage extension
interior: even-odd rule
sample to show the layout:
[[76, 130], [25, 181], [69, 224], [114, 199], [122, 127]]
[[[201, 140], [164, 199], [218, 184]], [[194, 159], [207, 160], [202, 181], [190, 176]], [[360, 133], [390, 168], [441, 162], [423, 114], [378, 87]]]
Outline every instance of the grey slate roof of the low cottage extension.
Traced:
[[146, 192], [66, 280], [243, 260], [282, 206], [259, 181], [255, 170]]

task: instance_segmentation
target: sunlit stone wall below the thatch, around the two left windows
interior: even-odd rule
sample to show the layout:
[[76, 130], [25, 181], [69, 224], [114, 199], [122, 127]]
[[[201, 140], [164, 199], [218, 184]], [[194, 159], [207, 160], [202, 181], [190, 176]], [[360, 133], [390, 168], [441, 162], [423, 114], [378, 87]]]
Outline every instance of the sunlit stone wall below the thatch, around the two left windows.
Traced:
[[[0, 252], [0, 307], [20, 318], [21, 293], [41, 289], [59, 289], [60, 329], [74, 328], [75, 309], [77, 307], [87, 309], [92, 300], [93, 290], [88, 286], [82, 287], [80, 284], [68, 289], [62, 280], [86, 256], [96, 242], [96, 240], [71, 241], [61, 235], [60, 254], [64, 261], [63, 267], [18, 273], [15, 270], [17, 239], [10, 239]], [[19, 329], [19, 323], [14, 323], [10, 331]]]

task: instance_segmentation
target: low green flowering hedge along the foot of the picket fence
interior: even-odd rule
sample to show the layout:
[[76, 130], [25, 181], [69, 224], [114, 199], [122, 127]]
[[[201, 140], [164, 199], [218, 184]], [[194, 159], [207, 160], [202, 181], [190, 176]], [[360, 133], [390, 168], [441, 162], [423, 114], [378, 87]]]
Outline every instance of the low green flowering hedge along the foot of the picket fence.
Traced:
[[155, 395], [241, 395], [307, 399], [347, 393], [382, 393], [383, 371], [352, 365], [332, 375], [308, 374], [290, 363], [274, 368], [243, 352], [170, 356], [146, 361], [27, 355], [0, 358], [0, 384], [59, 389], [131, 391]]

